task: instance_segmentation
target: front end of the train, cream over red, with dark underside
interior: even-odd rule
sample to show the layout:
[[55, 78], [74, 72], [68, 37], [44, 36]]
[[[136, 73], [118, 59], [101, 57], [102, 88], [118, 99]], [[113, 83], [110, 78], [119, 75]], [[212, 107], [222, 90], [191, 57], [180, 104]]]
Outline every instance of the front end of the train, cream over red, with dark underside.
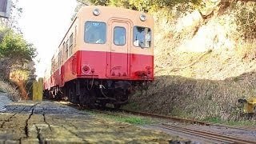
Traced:
[[[94, 102], [101, 105], [119, 107], [135, 87], [146, 90], [154, 80], [154, 19], [143, 12], [106, 6], [86, 6], [78, 19], [82, 33], [77, 72], [79, 85], [86, 87], [81, 93], [93, 94]], [[80, 101], [86, 102], [86, 96]]]

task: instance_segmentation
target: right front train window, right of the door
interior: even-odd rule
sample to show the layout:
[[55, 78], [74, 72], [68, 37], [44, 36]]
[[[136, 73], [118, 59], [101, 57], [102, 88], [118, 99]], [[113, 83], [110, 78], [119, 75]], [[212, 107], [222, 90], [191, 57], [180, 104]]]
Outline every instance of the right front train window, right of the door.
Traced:
[[134, 46], [149, 48], [151, 45], [151, 30], [148, 27], [134, 26]]

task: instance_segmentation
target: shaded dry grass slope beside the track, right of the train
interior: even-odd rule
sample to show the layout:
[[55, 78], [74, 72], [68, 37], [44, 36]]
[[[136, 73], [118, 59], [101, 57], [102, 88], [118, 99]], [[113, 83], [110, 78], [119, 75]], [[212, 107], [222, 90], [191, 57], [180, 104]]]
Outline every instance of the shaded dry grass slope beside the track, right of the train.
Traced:
[[131, 98], [139, 110], [186, 118], [237, 120], [238, 98], [256, 94], [256, 74], [242, 74], [223, 81], [159, 76], [148, 95]]

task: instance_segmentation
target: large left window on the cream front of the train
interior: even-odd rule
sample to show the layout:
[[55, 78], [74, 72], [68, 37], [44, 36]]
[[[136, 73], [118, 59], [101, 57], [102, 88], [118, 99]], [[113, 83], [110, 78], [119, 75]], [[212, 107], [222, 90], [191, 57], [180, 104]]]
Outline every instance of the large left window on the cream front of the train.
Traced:
[[86, 43], [106, 43], [106, 23], [86, 22], [84, 40]]

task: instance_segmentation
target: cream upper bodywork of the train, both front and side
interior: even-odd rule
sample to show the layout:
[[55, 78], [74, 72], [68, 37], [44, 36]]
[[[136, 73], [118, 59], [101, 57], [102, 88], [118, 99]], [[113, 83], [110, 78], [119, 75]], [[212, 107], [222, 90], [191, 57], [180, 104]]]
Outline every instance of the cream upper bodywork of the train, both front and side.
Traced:
[[[98, 9], [100, 14], [94, 15], [93, 11]], [[140, 19], [141, 15], [146, 16], [146, 20]], [[86, 22], [104, 22], [106, 23], [106, 42], [104, 44], [91, 44], [85, 42], [85, 24]], [[111, 51], [111, 42], [113, 40], [112, 24], [113, 22], [126, 23], [129, 31], [126, 38], [129, 45], [129, 54], [154, 55], [154, 19], [149, 14], [145, 14], [136, 10], [129, 10], [110, 6], [83, 6], [79, 11], [66, 35], [58, 46], [53, 58], [51, 59], [51, 74], [58, 70], [60, 66], [66, 62], [78, 50], [90, 51]], [[150, 47], [142, 48], [134, 46], [133, 30], [134, 26], [142, 26], [150, 28]]]

